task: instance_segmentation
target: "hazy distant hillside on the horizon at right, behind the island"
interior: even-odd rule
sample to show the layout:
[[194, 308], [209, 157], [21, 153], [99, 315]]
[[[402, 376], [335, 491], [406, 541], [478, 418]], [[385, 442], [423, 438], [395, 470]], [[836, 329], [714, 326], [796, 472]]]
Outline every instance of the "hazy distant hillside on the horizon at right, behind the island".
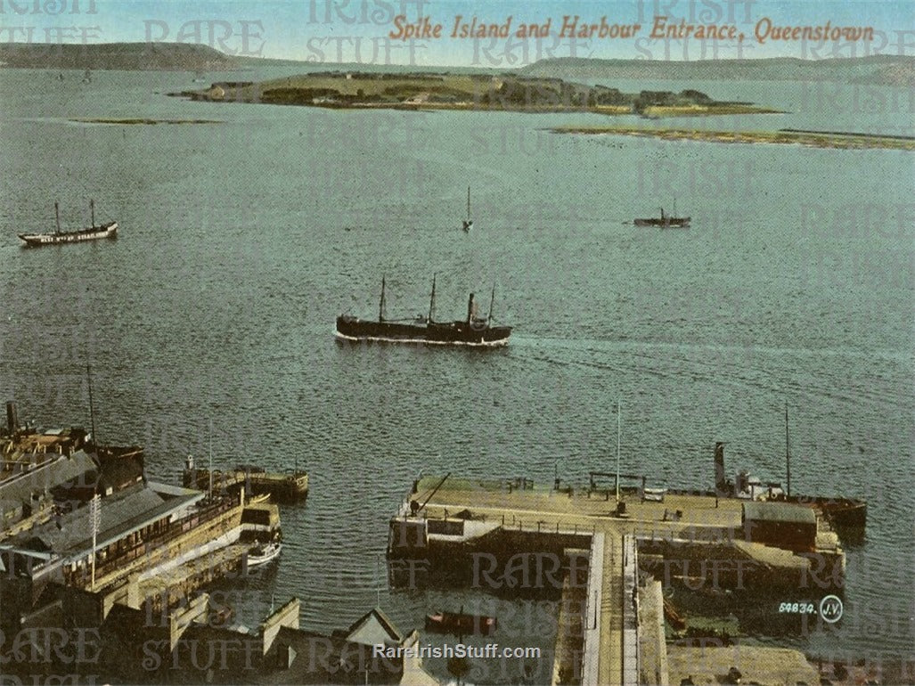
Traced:
[[605, 80], [816, 80], [915, 85], [915, 57], [874, 55], [847, 59], [541, 59], [524, 76], [590, 82]]

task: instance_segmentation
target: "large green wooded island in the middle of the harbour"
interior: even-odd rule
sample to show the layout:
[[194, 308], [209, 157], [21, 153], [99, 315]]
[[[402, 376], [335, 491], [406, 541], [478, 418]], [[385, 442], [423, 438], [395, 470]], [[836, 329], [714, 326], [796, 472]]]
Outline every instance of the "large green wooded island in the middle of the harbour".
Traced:
[[641, 91], [516, 74], [320, 71], [284, 79], [222, 81], [172, 95], [206, 102], [331, 108], [591, 112], [648, 117], [777, 113], [750, 102], [716, 102], [700, 91]]

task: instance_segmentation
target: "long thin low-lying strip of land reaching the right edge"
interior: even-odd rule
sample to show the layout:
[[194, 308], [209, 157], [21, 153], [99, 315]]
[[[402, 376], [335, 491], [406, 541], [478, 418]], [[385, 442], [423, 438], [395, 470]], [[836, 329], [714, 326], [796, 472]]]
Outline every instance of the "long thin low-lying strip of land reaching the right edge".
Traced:
[[829, 147], [846, 150], [887, 148], [915, 150], [915, 137], [855, 134], [832, 131], [701, 131], [695, 129], [649, 129], [636, 126], [557, 126], [554, 134], [610, 134], [661, 138], [665, 141], [708, 141], [714, 143], [779, 143]]

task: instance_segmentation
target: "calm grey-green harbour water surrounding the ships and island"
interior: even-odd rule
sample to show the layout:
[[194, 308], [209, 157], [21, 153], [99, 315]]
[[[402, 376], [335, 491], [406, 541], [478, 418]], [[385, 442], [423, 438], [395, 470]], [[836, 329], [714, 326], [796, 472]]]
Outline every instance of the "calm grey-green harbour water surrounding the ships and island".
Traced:
[[[380, 596], [404, 628], [458, 603], [533, 613], [501, 642], [551, 646], [538, 606], [387, 588], [386, 521], [415, 475], [584, 484], [615, 461], [619, 399], [624, 471], [706, 487], [723, 440], [729, 472], [779, 479], [787, 402], [792, 488], [869, 504], [843, 621], [792, 642], [910, 655], [915, 155], [545, 131], [606, 122], [588, 114], [195, 103], [165, 95], [199, 85], [186, 73], [63, 76], [0, 70], [0, 389], [39, 423], [88, 423], [88, 360], [100, 437], [145, 444], [153, 477], [177, 481], [210, 443], [217, 466], [307, 467], [279, 571], [240, 592], [250, 623], [297, 595], [303, 626], [329, 630]], [[212, 78], [233, 76], [261, 75]], [[911, 134], [910, 91], [818, 88], [701, 84], [791, 113], [675, 123]], [[70, 121], [92, 117], [219, 123]], [[85, 224], [90, 198], [118, 241], [18, 247], [55, 200], [66, 228]], [[674, 198], [690, 230], [628, 223]], [[389, 315], [412, 316], [433, 273], [443, 317], [469, 291], [486, 309], [494, 285], [511, 345], [334, 341], [340, 312], [375, 311], [382, 274]]]

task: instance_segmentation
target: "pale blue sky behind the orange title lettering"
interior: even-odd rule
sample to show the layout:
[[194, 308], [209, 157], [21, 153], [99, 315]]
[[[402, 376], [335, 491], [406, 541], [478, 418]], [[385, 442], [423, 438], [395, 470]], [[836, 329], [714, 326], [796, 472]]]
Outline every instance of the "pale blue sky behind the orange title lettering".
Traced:
[[[576, 16], [575, 32], [596, 25], [593, 35], [561, 35]], [[652, 38], [657, 16], [666, 17], [661, 33], [682, 22], [693, 32], [714, 24], [726, 36], [733, 27], [735, 38]], [[458, 34], [463, 25], [471, 32], [474, 19], [508, 38], [452, 36], [456, 24]], [[830, 30], [870, 27], [873, 39], [782, 39], [777, 33], [827, 22]], [[520, 38], [522, 25], [535, 25], [544, 36]], [[406, 38], [408, 26], [428, 33]], [[0, 42], [10, 40], [199, 43], [264, 58], [491, 68], [548, 57], [915, 56], [915, 0], [0, 0]]]

